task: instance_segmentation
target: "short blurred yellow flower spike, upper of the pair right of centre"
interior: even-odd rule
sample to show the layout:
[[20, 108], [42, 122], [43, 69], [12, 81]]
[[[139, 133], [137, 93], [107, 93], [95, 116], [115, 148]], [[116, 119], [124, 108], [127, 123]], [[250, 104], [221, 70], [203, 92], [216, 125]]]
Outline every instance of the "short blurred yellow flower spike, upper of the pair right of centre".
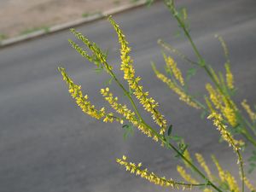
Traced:
[[177, 63], [170, 56], [164, 55], [164, 58], [166, 61], [166, 67], [172, 72], [175, 79], [177, 79], [180, 84], [184, 85], [183, 75], [179, 68], [177, 68]]

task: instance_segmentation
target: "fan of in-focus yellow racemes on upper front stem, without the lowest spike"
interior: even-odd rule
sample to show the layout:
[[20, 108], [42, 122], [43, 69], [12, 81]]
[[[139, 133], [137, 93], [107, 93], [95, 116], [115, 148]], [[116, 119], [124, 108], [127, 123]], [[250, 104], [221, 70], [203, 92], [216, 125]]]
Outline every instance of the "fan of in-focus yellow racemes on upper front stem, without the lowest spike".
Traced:
[[[148, 91], [144, 91], [143, 86], [139, 84], [141, 78], [135, 76], [135, 70], [132, 66], [132, 60], [129, 55], [131, 48], [128, 47], [128, 43], [125, 40], [125, 35], [111, 17], [108, 17], [108, 20], [113, 25], [113, 28], [119, 36], [119, 43], [121, 45], [120, 54], [122, 62], [120, 70], [124, 72], [124, 79], [128, 83], [128, 89], [120, 83], [119, 79], [113, 73], [112, 67], [108, 64], [107, 56], [104, 55], [102, 50], [98, 48], [95, 43], [90, 42], [88, 38], [85, 38], [84, 35], [82, 35], [80, 32], [76, 32], [74, 29], [71, 29], [71, 32], [73, 32], [76, 38], [79, 38], [83, 41], [87, 48], [90, 49], [90, 51], [92, 52], [92, 55], [89, 55], [86, 50], [81, 48], [78, 44], [75, 44], [72, 40], [69, 40], [69, 42], [73, 46], [73, 48], [79, 52], [80, 55], [82, 55], [87, 60], [94, 62], [97, 67], [102, 67], [108, 74], [110, 74], [114, 81], [124, 91], [125, 96], [128, 97], [133, 107], [133, 111], [131, 109], [128, 109], [125, 105], [117, 103], [118, 97], [113, 98], [113, 94], [109, 92], [109, 88], [101, 90], [102, 96], [104, 96], [105, 100], [109, 102], [110, 106], [115, 110], [115, 113], [119, 113], [122, 115], [122, 118], [117, 117], [117, 115], [113, 115], [114, 112], [105, 113], [105, 108], [97, 111], [95, 107], [90, 104], [88, 96], [83, 96], [81, 87], [79, 85], [73, 84], [73, 81], [67, 76], [65, 69], [60, 67], [59, 70], [61, 71], [63, 79], [67, 82], [69, 86], [69, 91], [71, 93], [79, 93], [73, 94], [72, 96], [78, 103], [79, 107], [82, 108], [84, 113], [87, 113], [91, 117], [96, 119], [101, 119], [104, 117], [103, 121], [105, 122], [113, 122], [113, 119], [115, 119], [116, 121], [123, 123], [124, 120], [127, 120], [132, 125], [137, 126], [137, 128], [143, 131], [143, 133], [146, 134], [148, 137], [152, 137], [155, 141], [158, 141], [159, 138], [155, 134], [156, 131], [149, 129], [143, 121], [141, 115], [138, 113], [137, 106], [135, 105], [135, 102], [131, 97], [131, 93], [137, 97], [137, 100], [143, 105], [143, 108], [148, 113], [152, 114], [154, 122], [160, 126], [160, 135], [163, 135], [166, 131], [166, 119], [157, 109], [158, 103], [155, 102], [152, 97], [148, 96]], [[131, 92], [128, 90], [131, 90]]]

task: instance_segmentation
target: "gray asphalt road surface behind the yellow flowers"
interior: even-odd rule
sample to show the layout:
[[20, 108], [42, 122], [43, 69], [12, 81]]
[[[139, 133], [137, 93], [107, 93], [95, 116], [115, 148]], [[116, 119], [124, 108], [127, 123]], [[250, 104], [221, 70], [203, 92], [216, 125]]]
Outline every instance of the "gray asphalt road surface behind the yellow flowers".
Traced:
[[[192, 35], [202, 55], [222, 70], [224, 56], [214, 34], [224, 37], [238, 88], [236, 101], [247, 98], [255, 103], [255, 0], [182, 0], [178, 5], [189, 10]], [[218, 131], [211, 122], [201, 120], [199, 112], [179, 102], [154, 77], [150, 61], [155, 61], [162, 71], [164, 67], [158, 38], [195, 58], [184, 38], [174, 38], [177, 24], [164, 5], [133, 9], [114, 19], [131, 43], [137, 75], [143, 78], [145, 90], [160, 102], [160, 111], [174, 125], [174, 133], [190, 143], [191, 153], [204, 154], [209, 164], [211, 154], [215, 154], [221, 165], [237, 175], [236, 155], [225, 143], [218, 143]], [[121, 77], [119, 45], [108, 21], [98, 20], [77, 29], [109, 50], [109, 61]], [[127, 154], [132, 161], [143, 161], [150, 170], [175, 178], [177, 160], [172, 152], [138, 131], [124, 141], [120, 125], [98, 122], [75, 106], [57, 72], [58, 66], [66, 67], [99, 107], [107, 105], [99, 90], [108, 76], [96, 74], [94, 66], [70, 48], [68, 38], [73, 38], [70, 32], [58, 32], [0, 49], [0, 191], [167, 191], [131, 176], [116, 165], [115, 158]], [[177, 61], [183, 70], [189, 67]], [[199, 71], [198, 77], [192, 79], [191, 90], [203, 93], [207, 80], [206, 74]], [[114, 84], [111, 90], [123, 98]], [[144, 116], [151, 122], [149, 115]]]

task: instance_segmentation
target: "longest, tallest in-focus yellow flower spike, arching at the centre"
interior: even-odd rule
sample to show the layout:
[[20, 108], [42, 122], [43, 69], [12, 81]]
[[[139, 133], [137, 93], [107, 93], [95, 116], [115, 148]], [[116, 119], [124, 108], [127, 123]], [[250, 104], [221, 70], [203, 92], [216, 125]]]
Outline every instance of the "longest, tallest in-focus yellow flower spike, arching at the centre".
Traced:
[[129, 55], [131, 52], [131, 48], [128, 47], [128, 42], [125, 40], [125, 35], [111, 17], [108, 17], [108, 20], [110, 21], [119, 36], [119, 43], [121, 45], [120, 69], [124, 72], [124, 79], [127, 80], [129, 87], [131, 88], [131, 90], [133, 90], [133, 94], [143, 105], [143, 108], [145, 108], [145, 110], [149, 113], [152, 113], [152, 118], [154, 119], [154, 122], [157, 125], [160, 125], [160, 134], [164, 134], [167, 126], [166, 119], [164, 119], [164, 116], [160, 114], [160, 112], [156, 109], [158, 103], [155, 102], [152, 97], [148, 97], [148, 92], [143, 91], [143, 86], [138, 84], [141, 78], [135, 77], [135, 70], [132, 66], [133, 61], [131, 60], [131, 56]]

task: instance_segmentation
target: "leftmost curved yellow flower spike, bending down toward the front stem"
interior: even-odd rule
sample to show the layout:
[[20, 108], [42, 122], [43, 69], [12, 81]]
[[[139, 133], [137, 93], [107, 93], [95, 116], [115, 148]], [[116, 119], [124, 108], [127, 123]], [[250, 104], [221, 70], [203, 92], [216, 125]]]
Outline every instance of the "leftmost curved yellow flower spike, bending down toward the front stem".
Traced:
[[121, 119], [113, 116], [113, 113], [106, 113], [105, 108], [101, 108], [97, 110], [94, 105], [92, 105], [89, 101], [89, 97], [87, 95], [83, 96], [81, 86], [78, 84], [74, 84], [73, 80], [67, 76], [65, 69], [59, 67], [59, 71], [62, 74], [63, 80], [66, 81], [68, 85], [68, 91], [71, 96], [75, 99], [78, 106], [82, 109], [84, 113], [87, 113], [93, 118], [103, 119], [104, 122], [113, 122], [113, 120], [121, 121]]

